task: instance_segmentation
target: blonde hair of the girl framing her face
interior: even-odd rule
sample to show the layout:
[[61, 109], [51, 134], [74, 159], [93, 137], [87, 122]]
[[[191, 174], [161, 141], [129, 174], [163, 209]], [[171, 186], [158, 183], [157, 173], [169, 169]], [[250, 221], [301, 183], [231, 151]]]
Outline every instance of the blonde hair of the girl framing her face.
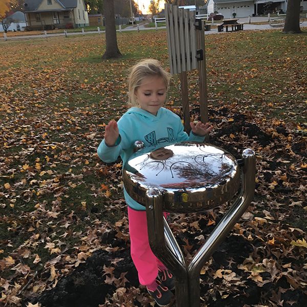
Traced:
[[166, 72], [161, 63], [154, 59], [144, 59], [134, 65], [128, 77], [128, 104], [139, 106], [135, 92], [146, 77], [161, 77], [164, 81], [166, 92], [168, 90], [170, 74]]

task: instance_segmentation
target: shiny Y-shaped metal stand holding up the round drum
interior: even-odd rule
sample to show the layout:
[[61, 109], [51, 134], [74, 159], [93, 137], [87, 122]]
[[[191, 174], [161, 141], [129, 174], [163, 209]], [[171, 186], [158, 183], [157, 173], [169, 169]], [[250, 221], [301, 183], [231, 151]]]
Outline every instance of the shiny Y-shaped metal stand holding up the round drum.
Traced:
[[161, 191], [158, 188], [151, 188], [147, 191], [146, 214], [149, 244], [153, 253], [176, 278], [177, 307], [200, 307], [201, 269], [251, 203], [255, 190], [255, 153], [251, 149], [245, 149], [242, 157], [243, 159], [239, 161], [240, 194], [189, 265], [163, 216]]

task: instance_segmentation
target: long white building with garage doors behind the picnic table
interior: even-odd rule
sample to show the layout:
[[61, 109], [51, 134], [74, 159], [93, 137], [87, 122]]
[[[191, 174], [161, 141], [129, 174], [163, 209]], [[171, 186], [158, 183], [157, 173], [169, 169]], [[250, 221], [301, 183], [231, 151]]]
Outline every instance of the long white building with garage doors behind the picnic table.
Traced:
[[[224, 18], [248, 17], [273, 11], [287, 11], [288, 0], [208, 0], [207, 13], [218, 12]], [[307, 10], [307, 0], [301, 1], [301, 10]]]

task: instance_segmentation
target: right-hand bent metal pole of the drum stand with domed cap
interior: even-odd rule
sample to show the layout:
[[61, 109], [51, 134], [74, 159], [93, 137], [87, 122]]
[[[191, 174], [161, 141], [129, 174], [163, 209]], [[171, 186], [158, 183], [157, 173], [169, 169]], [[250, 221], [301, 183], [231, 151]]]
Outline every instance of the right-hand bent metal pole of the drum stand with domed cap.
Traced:
[[[224, 215], [220, 223], [214, 228], [204, 245], [196, 253], [188, 267], [190, 307], [199, 307], [200, 300], [200, 272], [204, 263], [223, 242], [228, 233], [242, 214], [247, 210], [255, 191], [256, 157], [251, 149], [243, 151], [244, 166], [242, 168], [242, 188], [239, 198], [229, 211]], [[197, 299], [196, 299], [197, 298]]]

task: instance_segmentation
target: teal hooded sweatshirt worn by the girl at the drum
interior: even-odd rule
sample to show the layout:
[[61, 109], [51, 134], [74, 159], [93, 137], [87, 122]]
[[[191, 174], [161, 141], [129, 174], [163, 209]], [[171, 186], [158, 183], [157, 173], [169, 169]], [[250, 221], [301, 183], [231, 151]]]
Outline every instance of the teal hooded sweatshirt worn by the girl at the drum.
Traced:
[[[107, 146], [102, 140], [97, 153], [99, 158], [106, 163], [114, 162], [120, 156], [123, 160], [123, 167], [128, 160], [158, 148], [187, 140], [201, 143], [205, 139], [192, 132], [188, 136], [183, 130], [180, 117], [164, 107], [159, 109], [156, 116], [140, 107], [131, 107], [117, 124], [119, 137], [115, 145]], [[144, 143], [144, 148], [134, 152], [134, 143], [138, 140]], [[130, 198], [125, 188], [124, 196], [130, 208], [145, 210], [144, 206]]]

